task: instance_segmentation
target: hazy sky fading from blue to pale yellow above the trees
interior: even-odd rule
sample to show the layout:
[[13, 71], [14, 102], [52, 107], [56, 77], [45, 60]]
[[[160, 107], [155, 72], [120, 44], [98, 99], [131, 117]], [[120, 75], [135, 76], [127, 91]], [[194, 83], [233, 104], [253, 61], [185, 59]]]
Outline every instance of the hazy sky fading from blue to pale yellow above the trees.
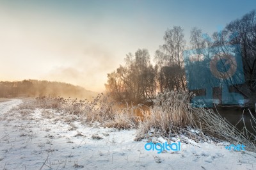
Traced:
[[210, 35], [256, 1], [0, 1], [0, 81], [45, 79], [104, 91], [125, 54], [151, 59], [167, 27]]

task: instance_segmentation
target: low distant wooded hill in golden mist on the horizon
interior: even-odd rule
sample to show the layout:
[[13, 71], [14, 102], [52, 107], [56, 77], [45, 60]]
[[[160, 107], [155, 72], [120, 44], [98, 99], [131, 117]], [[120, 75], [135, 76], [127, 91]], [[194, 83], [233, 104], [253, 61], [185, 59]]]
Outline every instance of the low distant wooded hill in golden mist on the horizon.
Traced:
[[90, 100], [95, 95], [97, 93], [93, 91], [88, 91], [80, 86], [74, 86], [64, 82], [37, 80], [0, 82], [0, 97], [60, 96]]

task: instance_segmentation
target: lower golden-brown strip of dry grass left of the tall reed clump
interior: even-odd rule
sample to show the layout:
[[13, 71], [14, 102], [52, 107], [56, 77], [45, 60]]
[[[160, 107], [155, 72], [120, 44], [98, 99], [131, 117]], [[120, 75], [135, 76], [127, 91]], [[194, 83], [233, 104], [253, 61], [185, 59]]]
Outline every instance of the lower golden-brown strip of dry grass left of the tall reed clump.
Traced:
[[[48, 109], [63, 112], [65, 114], [64, 121], [66, 122], [79, 119], [87, 123], [99, 122], [106, 127], [118, 129], [136, 128], [138, 126], [138, 118], [132, 107], [127, 105], [120, 109], [115, 102], [109, 100], [103, 94], [99, 94], [92, 102], [61, 97], [38, 97], [31, 105], [34, 108], [45, 109], [42, 114], [46, 118], [51, 118], [51, 112]], [[70, 130], [75, 129], [70, 128]]]

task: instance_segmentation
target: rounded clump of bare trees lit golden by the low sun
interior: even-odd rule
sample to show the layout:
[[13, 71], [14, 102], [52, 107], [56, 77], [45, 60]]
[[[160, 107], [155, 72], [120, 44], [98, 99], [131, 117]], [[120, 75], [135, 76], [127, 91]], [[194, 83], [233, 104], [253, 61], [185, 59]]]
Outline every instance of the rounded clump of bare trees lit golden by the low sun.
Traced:
[[155, 70], [150, 64], [147, 49], [138, 49], [133, 56], [126, 55], [125, 66], [108, 75], [105, 84], [108, 93], [122, 102], [140, 103], [156, 97]]

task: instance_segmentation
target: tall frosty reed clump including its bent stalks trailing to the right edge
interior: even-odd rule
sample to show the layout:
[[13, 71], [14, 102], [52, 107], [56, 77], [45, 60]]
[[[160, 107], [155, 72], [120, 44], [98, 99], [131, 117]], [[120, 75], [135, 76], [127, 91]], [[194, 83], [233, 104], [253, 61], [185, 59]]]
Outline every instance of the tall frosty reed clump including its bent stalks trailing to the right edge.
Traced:
[[[227, 120], [214, 113], [212, 109], [190, 107], [189, 101], [192, 97], [191, 93], [174, 91], [165, 91], [159, 95], [150, 109], [150, 114], [145, 114], [144, 121], [140, 123], [137, 140], [145, 137], [145, 134], [152, 129], [165, 137], [186, 131], [196, 141], [208, 140], [210, 136], [233, 144], [244, 144], [247, 150], [256, 151], [255, 135], [248, 132], [246, 128], [243, 134]], [[186, 130], [190, 127], [200, 131], [199, 138]]]

